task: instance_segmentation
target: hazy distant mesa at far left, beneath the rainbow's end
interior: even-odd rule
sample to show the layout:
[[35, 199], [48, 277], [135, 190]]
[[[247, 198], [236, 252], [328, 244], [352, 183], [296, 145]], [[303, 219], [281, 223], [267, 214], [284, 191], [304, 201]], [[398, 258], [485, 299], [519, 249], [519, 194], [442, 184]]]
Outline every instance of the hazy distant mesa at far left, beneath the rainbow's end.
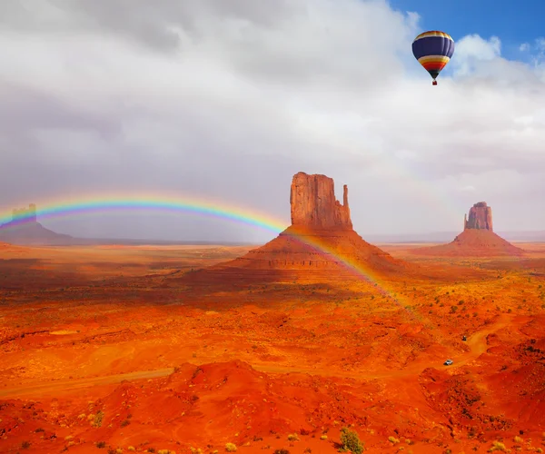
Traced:
[[37, 222], [35, 203], [30, 203], [28, 208], [15, 208], [12, 212], [12, 220], [0, 225], [0, 242], [22, 245], [61, 245], [72, 244], [73, 241], [72, 236], [53, 232]]

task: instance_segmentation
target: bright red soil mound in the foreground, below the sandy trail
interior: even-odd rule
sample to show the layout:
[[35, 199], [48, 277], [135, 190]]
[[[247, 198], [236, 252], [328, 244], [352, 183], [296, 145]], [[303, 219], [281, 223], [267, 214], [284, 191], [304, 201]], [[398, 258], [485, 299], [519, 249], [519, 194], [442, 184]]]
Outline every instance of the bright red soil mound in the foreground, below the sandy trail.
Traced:
[[[102, 399], [67, 409], [59, 408], [56, 400], [25, 405], [5, 400], [3, 433], [12, 440], [28, 440], [36, 452], [60, 452], [69, 441], [76, 445], [73, 449], [94, 452], [93, 444], [101, 440], [114, 449], [178, 452], [204, 446], [209, 452], [224, 452], [232, 442], [253, 445], [253, 452], [275, 439], [287, 445], [288, 433], [314, 434], [325, 448], [328, 443], [320, 436], [333, 421], [361, 430], [370, 417], [369, 403], [353, 393], [376, 386], [352, 387], [340, 381], [302, 374], [272, 377], [238, 360], [199, 367], [186, 363], [167, 378], [124, 382]], [[390, 425], [388, 418], [381, 423]], [[275, 434], [282, 434], [282, 440]]]

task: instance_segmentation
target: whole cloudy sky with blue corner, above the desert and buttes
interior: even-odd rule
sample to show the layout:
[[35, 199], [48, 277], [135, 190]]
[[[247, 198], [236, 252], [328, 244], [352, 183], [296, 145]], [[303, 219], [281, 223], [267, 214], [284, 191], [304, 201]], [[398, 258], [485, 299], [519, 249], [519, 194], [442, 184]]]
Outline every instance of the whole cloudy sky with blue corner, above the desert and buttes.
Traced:
[[[0, 210], [163, 193], [290, 222], [297, 172], [366, 234], [545, 230], [542, 1], [0, 2]], [[414, 37], [456, 42], [431, 77]], [[96, 195], [98, 197], [98, 195]], [[74, 236], [267, 241], [189, 213], [48, 219]]]

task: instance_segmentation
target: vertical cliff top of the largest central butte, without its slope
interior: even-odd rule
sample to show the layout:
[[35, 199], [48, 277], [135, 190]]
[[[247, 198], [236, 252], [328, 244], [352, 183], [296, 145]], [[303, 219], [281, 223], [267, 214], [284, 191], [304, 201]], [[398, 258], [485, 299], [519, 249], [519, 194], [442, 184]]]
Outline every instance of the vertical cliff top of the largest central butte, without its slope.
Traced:
[[346, 184], [342, 199], [342, 204], [335, 199], [332, 178], [296, 173], [290, 192], [292, 226], [314, 230], [352, 230]]

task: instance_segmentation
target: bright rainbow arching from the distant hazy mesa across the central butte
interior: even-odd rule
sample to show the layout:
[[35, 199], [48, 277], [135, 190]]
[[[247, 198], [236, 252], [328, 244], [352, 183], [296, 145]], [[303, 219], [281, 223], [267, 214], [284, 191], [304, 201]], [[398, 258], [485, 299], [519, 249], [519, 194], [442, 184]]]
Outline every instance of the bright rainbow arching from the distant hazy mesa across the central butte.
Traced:
[[[183, 198], [179, 194], [161, 194], [159, 196], [145, 195], [95, 195], [92, 198], [77, 198], [71, 200], [58, 200], [55, 202], [36, 203], [36, 217], [41, 219], [61, 218], [68, 216], [89, 215], [98, 212], [131, 212], [131, 211], [156, 211], [156, 212], [187, 212], [197, 215], [209, 216], [216, 219], [239, 222], [278, 234], [286, 229], [284, 222], [275, 220], [270, 216], [245, 210], [241, 207], [231, 206], [224, 202], [211, 202], [198, 198]], [[12, 222], [12, 212], [0, 212], [0, 225]], [[18, 219], [15, 224], [27, 222], [25, 217]], [[298, 241], [311, 246], [317, 252], [331, 256], [335, 262], [351, 271], [363, 281], [371, 283], [377, 291], [389, 300], [401, 305], [393, 291], [388, 291], [384, 284], [379, 284], [378, 275], [360, 262], [353, 262], [343, 257], [332, 249], [331, 246], [319, 241], [316, 237], [299, 236], [292, 234]], [[414, 314], [413, 314], [414, 315]], [[420, 318], [420, 317], [419, 317]]]

